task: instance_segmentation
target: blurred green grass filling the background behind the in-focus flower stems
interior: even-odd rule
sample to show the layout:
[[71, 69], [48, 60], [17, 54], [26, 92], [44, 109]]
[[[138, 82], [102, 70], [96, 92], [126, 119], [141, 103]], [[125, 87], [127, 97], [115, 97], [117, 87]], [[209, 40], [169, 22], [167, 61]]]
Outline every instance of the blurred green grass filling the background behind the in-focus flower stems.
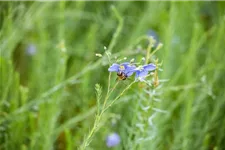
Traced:
[[141, 89], [134, 88], [105, 113], [88, 148], [106, 149], [106, 135], [118, 132], [115, 149], [225, 149], [224, 4], [0, 2], [0, 149], [79, 147], [94, 122], [94, 85], [107, 87], [107, 61], [95, 53], [104, 53], [118, 27], [111, 5], [124, 19], [112, 53], [135, 57], [129, 47], [150, 29], [164, 44], [159, 75], [169, 81], [153, 105], [168, 113], [154, 117], [153, 139], [136, 143], [138, 118], [147, 116], [139, 116]]

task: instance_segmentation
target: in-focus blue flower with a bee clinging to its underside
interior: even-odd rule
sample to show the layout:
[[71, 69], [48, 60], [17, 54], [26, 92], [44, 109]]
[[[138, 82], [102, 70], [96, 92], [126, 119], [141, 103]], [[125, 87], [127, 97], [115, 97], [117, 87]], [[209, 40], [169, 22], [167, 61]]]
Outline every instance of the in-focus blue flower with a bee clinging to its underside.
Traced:
[[135, 72], [136, 66], [130, 64], [129, 62], [125, 62], [122, 64], [112, 64], [109, 67], [109, 72], [117, 72], [117, 73], [124, 73], [127, 77], [131, 76]]

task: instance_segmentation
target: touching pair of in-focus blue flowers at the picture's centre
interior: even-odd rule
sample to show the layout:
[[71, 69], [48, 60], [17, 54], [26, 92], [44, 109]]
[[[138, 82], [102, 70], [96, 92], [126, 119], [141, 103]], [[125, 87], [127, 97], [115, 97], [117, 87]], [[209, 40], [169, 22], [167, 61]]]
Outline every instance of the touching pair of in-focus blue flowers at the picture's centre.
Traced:
[[122, 64], [112, 64], [112, 66], [109, 67], [108, 71], [117, 72], [117, 75], [123, 74], [125, 77], [129, 77], [133, 73], [136, 73], [135, 79], [144, 81], [148, 73], [155, 69], [156, 66], [153, 63], [136, 67], [134, 64], [125, 62]]

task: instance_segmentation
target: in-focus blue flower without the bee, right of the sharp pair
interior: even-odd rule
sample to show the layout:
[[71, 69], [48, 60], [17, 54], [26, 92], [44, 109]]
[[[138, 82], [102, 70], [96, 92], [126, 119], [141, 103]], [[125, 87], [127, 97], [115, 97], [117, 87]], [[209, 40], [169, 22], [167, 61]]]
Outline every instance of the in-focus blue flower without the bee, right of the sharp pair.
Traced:
[[148, 75], [148, 72], [155, 70], [155, 68], [156, 66], [154, 64], [140, 66], [137, 69], [135, 69], [136, 70], [135, 78], [139, 79], [140, 81], [144, 81], [145, 77]]

